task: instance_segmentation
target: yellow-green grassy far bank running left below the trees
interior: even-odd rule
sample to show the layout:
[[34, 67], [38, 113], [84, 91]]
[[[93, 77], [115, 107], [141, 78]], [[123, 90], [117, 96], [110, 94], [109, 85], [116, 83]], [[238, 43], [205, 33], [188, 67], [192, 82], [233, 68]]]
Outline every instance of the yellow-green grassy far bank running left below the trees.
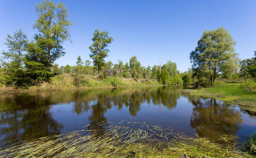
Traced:
[[98, 80], [96, 76], [87, 75], [84, 77], [84, 81], [79, 87], [73, 83], [73, 78], [70, 74], [60, 74], [51, 77], [50, 82], [44, 82], [37, 86], [30, 86], [26, 88], [14, 88], [14, 87], [0, 87], [0, 93], [12, 93], [12, 92], [40, 92], [40, 91], [54, 91], [54, 90], [77, 90], [84, 88], [113, 88], [113, 87], [145, 87], [145, 86], [160, 86], [156, 80], [139, 79], [134, 80], [132, 78], [116, 78], [106, 77], [102, 80]]

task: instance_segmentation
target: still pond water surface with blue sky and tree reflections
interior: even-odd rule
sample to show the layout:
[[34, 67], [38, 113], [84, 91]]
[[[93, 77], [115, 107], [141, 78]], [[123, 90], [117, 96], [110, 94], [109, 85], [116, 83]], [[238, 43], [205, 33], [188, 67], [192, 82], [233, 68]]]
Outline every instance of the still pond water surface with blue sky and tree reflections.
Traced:
[[206, 137], [232, 134], [244, 139], [256, 130], [256, 116], [238, 105], [170, 88], [1, 94], [0, 147], [84, 128], [100, 129], [100, 122], [122, 120]]

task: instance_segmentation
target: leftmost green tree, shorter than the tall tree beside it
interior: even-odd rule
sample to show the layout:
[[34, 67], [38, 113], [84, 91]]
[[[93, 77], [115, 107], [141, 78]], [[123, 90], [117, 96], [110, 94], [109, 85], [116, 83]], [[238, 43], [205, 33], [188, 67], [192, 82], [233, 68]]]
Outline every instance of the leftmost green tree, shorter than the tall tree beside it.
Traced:
[[22, 86], [24, 84], [24, 52], [27, 42], [27, 36], [21, 29], [15, 31], [13, 36], [7, 34], [4, 44], [8, 51], [2, 53], [2, 65], [7, 85]]

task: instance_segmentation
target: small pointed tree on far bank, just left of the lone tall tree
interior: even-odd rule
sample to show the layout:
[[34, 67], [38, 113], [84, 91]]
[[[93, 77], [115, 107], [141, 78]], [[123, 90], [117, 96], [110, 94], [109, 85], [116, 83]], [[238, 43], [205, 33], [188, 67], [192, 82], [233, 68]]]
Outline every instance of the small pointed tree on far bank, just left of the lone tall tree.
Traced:
[[77, 64], [72, 67], [72, 76], [74, 84], [78, 87], [83, 82], [84, 76], [86, 76], [86, 66], [83, 66], [82, 58], [80, 55], [77, 58]]

